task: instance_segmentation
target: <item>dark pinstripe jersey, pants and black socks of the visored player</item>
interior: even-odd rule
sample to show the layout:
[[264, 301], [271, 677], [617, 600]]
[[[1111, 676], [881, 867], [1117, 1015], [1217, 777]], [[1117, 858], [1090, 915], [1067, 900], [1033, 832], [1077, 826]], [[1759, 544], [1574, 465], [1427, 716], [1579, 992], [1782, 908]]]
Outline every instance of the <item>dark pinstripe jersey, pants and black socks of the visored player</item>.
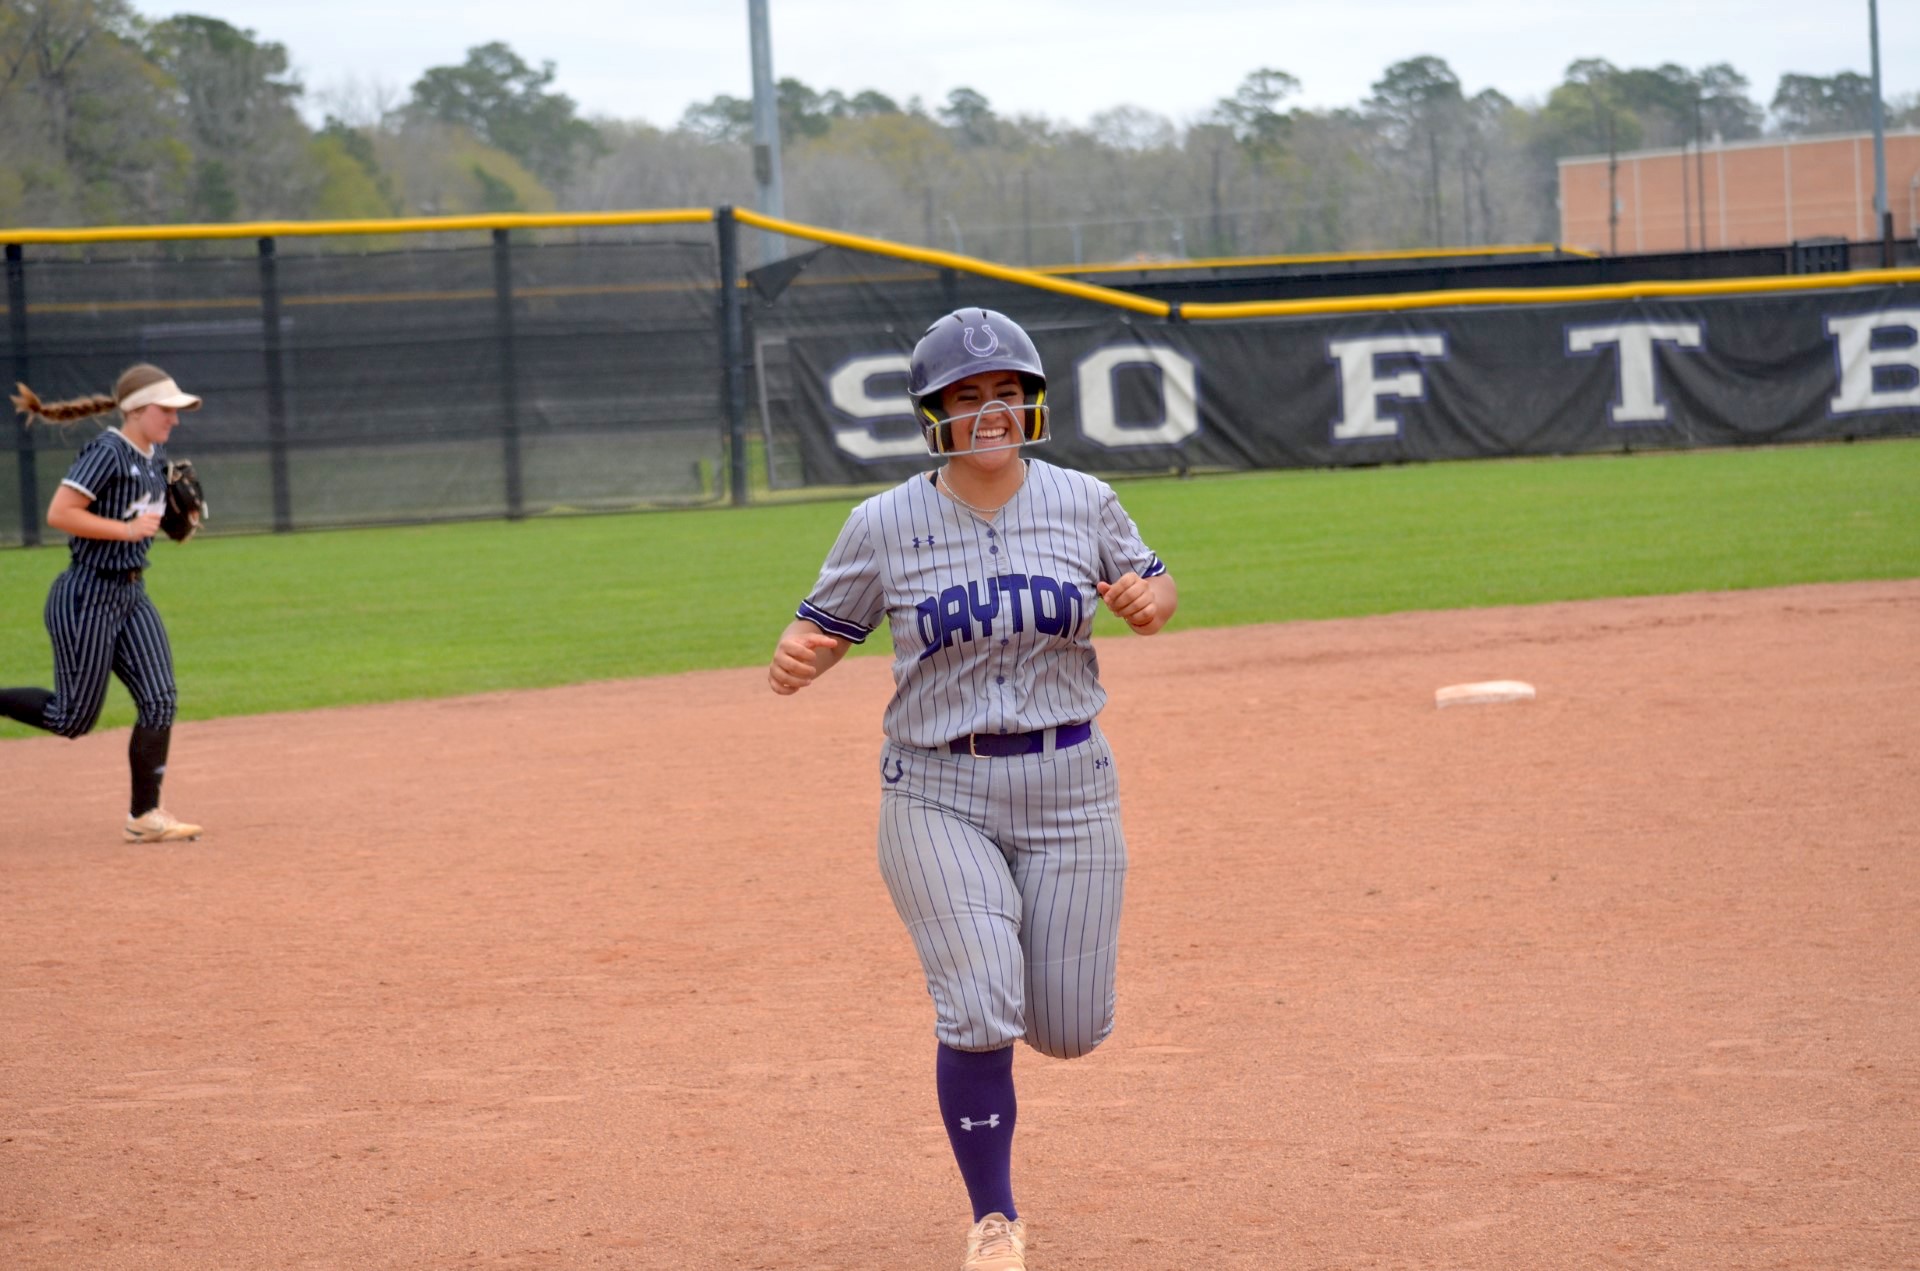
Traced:
[[[152, 453], [140, 453], [109, 428], [86, 444], [61, 484], [86, 495], [86, 511], [96, 516], [132, 520], [148, 511], [165, 511], [167, 455], [159, 445]], [[177, 701], [167, 628], [142, 582], [152, 541], [71, 538], [73, 561], [46, 593], [54, 691], [0, 691], [6, 714], [61, 737], [81, 737], [100, 722], [108, 676], [119, 676], [138, 710], [132, 741], [134, 804], [152, 799], [144, 808], [131, 808], [134, 816], [157, 806]], [[156, 749], [157, 770], [142, 774], [142, 751], [152, 755]], [[152, 758], [146, 762], [152, 764]]]

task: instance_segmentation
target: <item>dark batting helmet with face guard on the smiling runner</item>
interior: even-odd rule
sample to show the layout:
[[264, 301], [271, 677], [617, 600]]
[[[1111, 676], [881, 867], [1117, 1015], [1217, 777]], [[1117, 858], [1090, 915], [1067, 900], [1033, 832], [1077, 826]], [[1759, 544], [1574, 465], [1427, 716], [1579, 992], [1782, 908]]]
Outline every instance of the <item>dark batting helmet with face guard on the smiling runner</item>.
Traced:
[[[970, 405], [960, 413], [947, 415], [945, 390], [989, 371], [1018, 374], [1025, 401], [1014, 405], [1004, 399], [989, 399], [979, 407]], [[920, 422], [929, 455], [1016, 449], [1052, 436], [1041, 355], [1020, 323], [993, 309], [956, 309], [933, 323], [914, 346], [906, 396], [914, 403], [914, 419]], [[1006, 422], [1012, 424], [1008, 438], [993, 445], [977, 445], [975, 436], [981, 420], [993, 420], [996, 413], [1004, 413]], [[966, 430], [968, 444], [964, 447], [956, 444], [958, 424], [972, 424]]]

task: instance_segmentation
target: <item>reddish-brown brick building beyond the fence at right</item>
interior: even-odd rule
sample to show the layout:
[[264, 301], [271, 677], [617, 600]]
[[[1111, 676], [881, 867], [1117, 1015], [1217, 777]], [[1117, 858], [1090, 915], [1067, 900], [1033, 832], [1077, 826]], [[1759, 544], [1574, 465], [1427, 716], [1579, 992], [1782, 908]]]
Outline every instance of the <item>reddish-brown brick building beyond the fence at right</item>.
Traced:
[[[1920, 219], [1920, 131], [1887, 132], [1893, 236]], [[1770, 248], [1807, 238], [1880, 238], [1874, 134], [1636, 150], [1613, 161], [1619, 223], [1607, 223], [1607, 156], [1559, 161], [1559, 240], [1592, 252]]]

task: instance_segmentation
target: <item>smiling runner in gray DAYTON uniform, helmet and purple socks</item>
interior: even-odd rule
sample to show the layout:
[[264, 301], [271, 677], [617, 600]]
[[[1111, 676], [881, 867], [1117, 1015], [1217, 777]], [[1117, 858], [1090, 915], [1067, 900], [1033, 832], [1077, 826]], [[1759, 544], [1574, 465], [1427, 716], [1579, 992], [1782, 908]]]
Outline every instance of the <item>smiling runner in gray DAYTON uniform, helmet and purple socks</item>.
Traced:
[[1021, 455], [1048, 438], [1046, 374], [1012, 319], [960, 309], [908, 372], [947, 463], [847, 518], [774, 649], [797, 693], [891, 624], [879, 870], [937, 1014], [935, 1091], [973, 1202], [970, 1271], [1020, 1271], [1014, 1043], [1077, 1058], [1114, 1027], [1127, 847], [1094, 605], [1152, 636], [1177, 593], [1114, 490]]

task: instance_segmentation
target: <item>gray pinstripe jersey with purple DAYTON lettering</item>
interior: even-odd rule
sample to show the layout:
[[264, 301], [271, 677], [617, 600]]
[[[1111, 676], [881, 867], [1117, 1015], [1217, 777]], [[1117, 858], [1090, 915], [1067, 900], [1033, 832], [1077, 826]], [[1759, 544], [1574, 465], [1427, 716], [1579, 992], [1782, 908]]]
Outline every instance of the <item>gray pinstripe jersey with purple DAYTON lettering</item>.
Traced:
[[1164, 574], [1112, 486], [1027, 459], [981, 520], [922, 474], [852, 509], [799, 616], [862, 643], [893, 634], [895, 741], [1091, 720], [1106, 705], [1092, 651], [1094, 582]]

